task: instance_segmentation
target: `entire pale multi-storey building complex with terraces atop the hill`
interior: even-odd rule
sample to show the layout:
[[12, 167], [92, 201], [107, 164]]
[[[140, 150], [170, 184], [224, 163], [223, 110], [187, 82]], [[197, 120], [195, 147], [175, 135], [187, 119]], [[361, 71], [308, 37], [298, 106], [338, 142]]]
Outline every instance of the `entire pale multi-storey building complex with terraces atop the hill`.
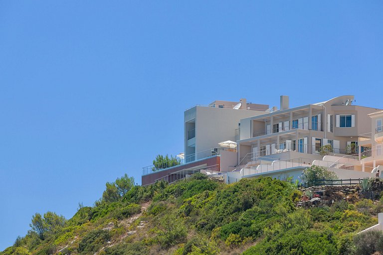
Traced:
[[[340, 96], [290, 108], [289, 97], [281, 96], [279, 109], [246, 99], [196, 105], [184, 114], [180, 164], [144, 167], [142, 184], [174, 182], [195, 172], [224, 176], [227, 183], [259, 175], [296, 179], [311, 164], [341, 177], [373, 176], [383, 165], [383, 111], [354, 101]], [[226, 140], [236, 147], [218, 145]]]

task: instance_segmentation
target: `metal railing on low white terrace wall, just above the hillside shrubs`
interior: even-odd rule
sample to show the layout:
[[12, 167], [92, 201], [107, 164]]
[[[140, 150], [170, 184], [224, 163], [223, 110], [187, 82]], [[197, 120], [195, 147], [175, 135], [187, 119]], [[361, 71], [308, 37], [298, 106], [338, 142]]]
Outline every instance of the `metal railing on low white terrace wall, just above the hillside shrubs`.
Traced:
[[309, 158], [293, 158], [288, 160], [276, 160], [272, 163], [261, 164], [258, 166], [244, 167], [240, 170], [242, 176], [258, 174], [258, 173], [266, 173], [276, 170], [283, 170], [292, 167], [309, 167], [311, 159]]

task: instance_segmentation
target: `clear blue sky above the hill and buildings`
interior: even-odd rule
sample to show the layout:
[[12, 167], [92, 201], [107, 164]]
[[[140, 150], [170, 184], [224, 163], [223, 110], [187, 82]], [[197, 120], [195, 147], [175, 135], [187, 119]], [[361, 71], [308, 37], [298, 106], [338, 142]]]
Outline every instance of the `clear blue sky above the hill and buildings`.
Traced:
[[[272, 4], [272, 3], [273, 4]], [[183, 113], [355, 95], [383, 108], [383, 2], [0, 1], [0, 250], [183, 151]]]

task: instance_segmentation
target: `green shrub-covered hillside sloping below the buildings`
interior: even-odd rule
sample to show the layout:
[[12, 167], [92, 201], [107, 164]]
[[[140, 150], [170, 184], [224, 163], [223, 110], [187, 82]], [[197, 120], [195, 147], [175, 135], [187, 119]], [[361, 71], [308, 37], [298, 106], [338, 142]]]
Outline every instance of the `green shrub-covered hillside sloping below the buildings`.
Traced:
[[359, 191], [330, 198], [331, 206], [307, 205], [294, 184], [269, 177], [229, 185], [202, 174], [171, 185], [132, 182], [107, 183], [94, 207], [80, 205], [69, 220], [34, 215], [28, 234], [0, 255], [369, 254], [355, 234], [377, 224], [383, 208]]

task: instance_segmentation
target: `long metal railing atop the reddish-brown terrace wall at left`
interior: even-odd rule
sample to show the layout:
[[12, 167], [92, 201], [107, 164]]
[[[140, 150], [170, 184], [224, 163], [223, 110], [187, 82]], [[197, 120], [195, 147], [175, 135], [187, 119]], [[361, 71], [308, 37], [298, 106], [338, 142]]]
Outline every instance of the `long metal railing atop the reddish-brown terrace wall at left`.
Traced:
[[175, 167], [187, 163], [191, 163], [196, 160], [212, 157], [212, 156], [217, 156], [220, 155], [220, 152], [222, 150], [229, 150], [227, 148], [211, 148], [211, 149], [206, 149], [199, 151], [197, 153], [193, 153], [187, 156], [184, 156], [183, 158], [177, 158], [177, 161], [175, 159], [159, 162], [153, 165], [145, 166], [142, 168], [142, 175], [147, 175], [151, 173], [155, 173], [158, 171], [163, 171], [166, 170], [170, 167]]

